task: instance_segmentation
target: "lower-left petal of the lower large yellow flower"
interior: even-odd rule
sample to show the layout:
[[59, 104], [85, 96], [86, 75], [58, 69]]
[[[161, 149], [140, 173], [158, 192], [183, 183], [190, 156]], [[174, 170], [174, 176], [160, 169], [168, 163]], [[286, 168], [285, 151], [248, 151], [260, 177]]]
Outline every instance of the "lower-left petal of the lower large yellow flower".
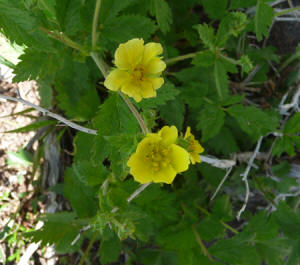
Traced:
[[127, 165], [130, 167], [130, 174], [134, 177], [135, 181], [142, 184], [151, 182], [153, 179], [152, 171], [145, 166], [145, 162], [137, 153], [133, 154]]

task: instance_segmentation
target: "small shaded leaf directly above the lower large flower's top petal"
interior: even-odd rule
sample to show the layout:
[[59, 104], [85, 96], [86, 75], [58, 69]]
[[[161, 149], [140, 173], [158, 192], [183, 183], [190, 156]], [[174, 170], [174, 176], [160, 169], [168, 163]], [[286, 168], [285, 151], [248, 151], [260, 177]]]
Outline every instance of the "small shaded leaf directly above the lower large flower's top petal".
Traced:
[[[168, 101], [159, 107], [160, 117], [169, 125], [175, 125], [180, 131], [184, 120], [185, 108], [180, 99]], [[174, 115], [176, 113], [176, 115]]]

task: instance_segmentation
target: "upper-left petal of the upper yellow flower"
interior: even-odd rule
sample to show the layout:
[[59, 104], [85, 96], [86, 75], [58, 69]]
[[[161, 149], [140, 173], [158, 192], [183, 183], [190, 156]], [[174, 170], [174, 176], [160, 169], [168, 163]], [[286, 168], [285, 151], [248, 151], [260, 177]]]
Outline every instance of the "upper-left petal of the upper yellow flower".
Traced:
[[132, 39], [120, 44], [115, 52], [115, 65], [121, 70], [133, 70], [141, 63], [144, 54], [144, 40]]

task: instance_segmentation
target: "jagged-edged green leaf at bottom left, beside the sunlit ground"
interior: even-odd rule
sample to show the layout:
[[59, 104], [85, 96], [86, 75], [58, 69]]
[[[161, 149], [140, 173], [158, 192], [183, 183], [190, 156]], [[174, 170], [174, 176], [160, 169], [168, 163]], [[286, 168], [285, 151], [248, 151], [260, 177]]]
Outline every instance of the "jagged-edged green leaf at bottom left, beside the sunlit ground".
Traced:
[[39, 230], [26, 233], [25, 236], [33, 236], [34, 242], [41, 241], [42, 247], [55, 244], [56, 251], [60, 253], [73, 252], [80, 247], [81, 240], [75, 246], [71, 243], [82, 227], [75, 217], [74, 213], [69, 212], [47, 214], [43, 218], [44, 226]]

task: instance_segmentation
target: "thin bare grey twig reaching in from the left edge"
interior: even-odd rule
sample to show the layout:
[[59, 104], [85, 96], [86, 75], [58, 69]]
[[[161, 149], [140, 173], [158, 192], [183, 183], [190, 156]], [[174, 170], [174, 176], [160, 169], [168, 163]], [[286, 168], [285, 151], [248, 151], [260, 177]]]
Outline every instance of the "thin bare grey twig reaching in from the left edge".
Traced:
[[21, 97], [18, 97], [18, 98], [14, 98], [14, 97], [10, 97], [10, 96], [6, 96], [6, 95], [2, 95], [0, 94], [0, 99], [4, 99], [4, 100], [11, 100], [11, 101], [15, 101], [15, 102], [20, 102], [24, 105], [27, 105], [27, 106], [30, 106], [34, 109], [36, 109], [37, 111], [40, 111], [43, 115], [46, 115], [46, 116], [49, 116], [53, 119], [56, 119], [64, 124], [66, 124], [67, 126], [75, 129], [75, 130], [78, 130], [78, 131], [81, 131], [81, 132], [85, 132], [85, 133], [88, 133], [88, 134], [94, 134], [94, 135], [97, 135], [97, 131], [96, 130], [92, 130], [92, 129], [89, 129], [89, 128], [86, 128], [86, 127], [83, 127], [83, 126], [80, 126], [74, 122], [71, 122], [65, 118], [63, 118], [62, 116], [58, 115], [58, 114], [55, 114], [47, 109], [44, 109], [40, 106], [37, 106], [27, 100], [24, 100], [22, 99]]

